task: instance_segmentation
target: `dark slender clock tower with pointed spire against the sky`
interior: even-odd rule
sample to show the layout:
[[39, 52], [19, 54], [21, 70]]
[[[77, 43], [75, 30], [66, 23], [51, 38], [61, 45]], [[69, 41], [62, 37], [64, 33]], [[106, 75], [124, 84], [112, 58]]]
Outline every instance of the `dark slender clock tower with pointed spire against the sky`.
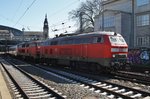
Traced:
[[45, 15], [44, 27], [43, 27], [43, 39], [48, 39], [49, 27], [47, 21], [47, 14]]

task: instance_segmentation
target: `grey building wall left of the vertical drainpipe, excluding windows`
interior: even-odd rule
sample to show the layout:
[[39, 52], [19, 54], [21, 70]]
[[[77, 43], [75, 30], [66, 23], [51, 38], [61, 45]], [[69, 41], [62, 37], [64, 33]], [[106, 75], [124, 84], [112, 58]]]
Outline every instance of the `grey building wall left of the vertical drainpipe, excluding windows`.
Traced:
[[[115, 17], [115, 25], [104, 27], [105, 31], [120, 33], [130, 46], [131, 33], [131, 0], [109, 0], [104, 3], [104, 18]], [[105, 20], [104, 20], [105, 21]], [[95, 17], [94, 31], [102, 30], [102, 15]]]

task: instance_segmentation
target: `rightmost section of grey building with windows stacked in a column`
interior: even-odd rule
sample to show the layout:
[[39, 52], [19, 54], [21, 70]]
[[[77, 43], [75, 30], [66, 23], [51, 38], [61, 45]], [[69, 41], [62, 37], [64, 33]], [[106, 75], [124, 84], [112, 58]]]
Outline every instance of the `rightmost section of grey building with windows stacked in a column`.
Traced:
[[135, 0], [135, 45], [150, 48], [150, 0]]

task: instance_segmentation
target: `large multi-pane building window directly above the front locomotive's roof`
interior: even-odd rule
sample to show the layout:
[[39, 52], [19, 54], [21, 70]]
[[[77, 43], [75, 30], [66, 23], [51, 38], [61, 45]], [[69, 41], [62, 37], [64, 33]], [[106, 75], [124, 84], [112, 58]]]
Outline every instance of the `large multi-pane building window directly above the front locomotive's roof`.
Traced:
[[104, 18], [104, 27], [113, 27], [115, 26], [115, 17], [109, 16]]

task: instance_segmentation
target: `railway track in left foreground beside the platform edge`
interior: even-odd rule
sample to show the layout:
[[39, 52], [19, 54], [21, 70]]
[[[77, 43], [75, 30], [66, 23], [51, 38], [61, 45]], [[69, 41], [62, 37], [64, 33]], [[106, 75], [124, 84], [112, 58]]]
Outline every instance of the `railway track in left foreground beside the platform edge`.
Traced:
[[[65, 99], [61, 93], [52, 90], [52, 87], [46, 85], [44, 82], [34, 79], [25, 71], [16, 67], [9, 62], [0, 58], [5, 77], [9, 79], [9, 85], [13, 90], [15, 98], [24, 99]], [[4, 74], [4, 73], [3, 73]]]

